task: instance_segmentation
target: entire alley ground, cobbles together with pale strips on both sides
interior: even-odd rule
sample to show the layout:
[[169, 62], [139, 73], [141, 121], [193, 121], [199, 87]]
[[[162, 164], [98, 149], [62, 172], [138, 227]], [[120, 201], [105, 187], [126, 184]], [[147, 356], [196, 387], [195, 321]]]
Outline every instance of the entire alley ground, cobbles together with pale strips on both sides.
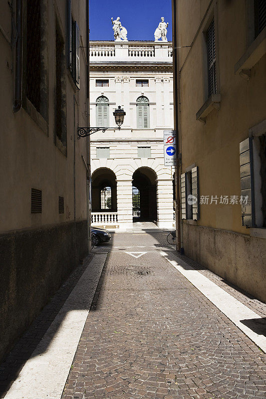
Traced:
[[[261, 339], [262, 346], [266, 306], [178, 257], [167, 244], [167, 232], [151, 224], [114, 234], [93, 250], [94, 261], [85, 262], [79, 280], [70, 276], [76, 280], [72, 292], [66, 297], [61, 287], [49, 310], [44, 308], [34, 329], [46, 323], [47, 331], [31, 347], [34, 352], [6, 399], [265, 397], [264, 352], [219, 310], [219, 301], [215, 306], [208, 299], [208, 284], [214, 298], [230, 298], [229, 310], [235, 304], [239, 312], [244, 309], [251, 322], [243, 320], [244, 330], [245, 321], [251, 334], [254, 325], [261, 326], [251, 337]], [[204, 294], [183, 275], [188, 271], [195, 273], [194, 285], [204, 279]], [[47, 325], [47, 313], [60, 295], [65, 295], [58, 309], [61, 318]], [[64, 323], [74, 310], [78, 316]], [[12, 373], [14, 379], [15, 369], [18, 374], [21, 349], [34, 344], [35, 336], [31, 331], [22, 337], [6, 359], [1, 387], [10, 383]]]

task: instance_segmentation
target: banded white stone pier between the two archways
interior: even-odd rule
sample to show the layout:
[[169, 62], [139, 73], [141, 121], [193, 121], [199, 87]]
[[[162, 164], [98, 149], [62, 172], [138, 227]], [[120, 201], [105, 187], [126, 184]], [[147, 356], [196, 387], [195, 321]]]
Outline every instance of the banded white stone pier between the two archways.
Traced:
[[132, 179], [116, 180], [117, 182], [117, 213], [119, 230], [133, 228], [132, 218]]

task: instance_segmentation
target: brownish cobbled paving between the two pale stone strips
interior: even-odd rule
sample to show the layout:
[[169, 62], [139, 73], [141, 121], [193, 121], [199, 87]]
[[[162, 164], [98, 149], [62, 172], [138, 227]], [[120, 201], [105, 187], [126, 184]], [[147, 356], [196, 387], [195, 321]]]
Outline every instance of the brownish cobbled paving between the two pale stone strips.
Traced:
[[62, 399], [265, 398], [265, 354], [160, 250], [114, 236]]

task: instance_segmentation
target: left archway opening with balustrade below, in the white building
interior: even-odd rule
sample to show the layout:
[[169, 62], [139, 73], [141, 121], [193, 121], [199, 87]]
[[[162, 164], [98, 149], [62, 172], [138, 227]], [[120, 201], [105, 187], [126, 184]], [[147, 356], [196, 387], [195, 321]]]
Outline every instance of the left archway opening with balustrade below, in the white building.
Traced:
[[92, 212], [117, 211], [116, 176], [108, 168], [100, 168], [91, 177]]

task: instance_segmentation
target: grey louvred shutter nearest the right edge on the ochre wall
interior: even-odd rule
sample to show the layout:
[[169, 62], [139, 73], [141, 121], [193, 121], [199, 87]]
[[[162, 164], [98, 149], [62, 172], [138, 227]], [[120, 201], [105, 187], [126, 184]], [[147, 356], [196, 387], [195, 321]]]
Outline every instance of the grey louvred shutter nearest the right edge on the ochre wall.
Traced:
[[255, 225], [255, 203], [254, 203], [254, 186], [253, 186], [253, 142], [252, 138], [240, 143], [240, 184], [241, 196], [246, 201], [241, 204], [242, 208], [242, 225], [252, 227]]

